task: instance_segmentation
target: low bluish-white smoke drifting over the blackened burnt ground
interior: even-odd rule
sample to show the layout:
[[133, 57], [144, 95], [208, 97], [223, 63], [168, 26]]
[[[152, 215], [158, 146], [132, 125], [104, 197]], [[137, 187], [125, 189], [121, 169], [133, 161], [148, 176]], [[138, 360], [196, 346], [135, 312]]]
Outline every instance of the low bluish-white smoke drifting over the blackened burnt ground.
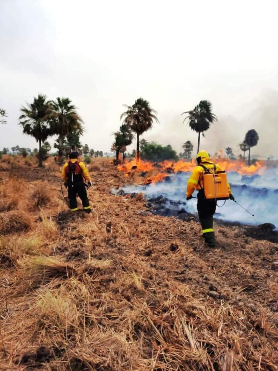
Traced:
[[[185, 209], [196, 213], [196, 199], [186, 201], [186, 186], [189, 173], [172, 175], [171, 182], [152, 183], [146, 186], [128, 185], [123, 188], [126, 193], [142, 192], [146, 198], [164, 196], [169, 209]], [[241, 175], [229, 173], [229, 182], [236, 201], [249, 210], [254, 217], [231, 200], [218, 201], [216, 219], [239, 222], [242, 224], [272, 223], [278, 226], [278, 171], [267, 169], [264, 175]], [[196, 197], [196, 192], [193, 194]], [[171, 203], [174, 201], [174, 203]], [[183, 204], [177, 204], [181, 201]]]

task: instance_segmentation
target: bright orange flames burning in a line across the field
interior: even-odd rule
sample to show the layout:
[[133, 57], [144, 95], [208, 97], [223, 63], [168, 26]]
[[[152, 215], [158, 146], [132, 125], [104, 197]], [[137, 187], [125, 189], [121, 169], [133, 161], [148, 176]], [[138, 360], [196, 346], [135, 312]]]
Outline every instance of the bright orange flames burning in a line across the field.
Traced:
[[[241, 175], [252, 175], [257, 173], [262, 173], [265, 170], [265, 162], [263, 160], [257, 161], [255, 165], [246, 165], [244, 161], [242, 160], [228, 160], [227, 158], [224, 158], [224, 152], [222, 150], [219, 150], [217, 153], [216, 158], [212, 158], [213, 162], [217, 163], [223, 170], [225, 170], [227, 173], [229, 172], [236, 172]], [[122, 165], [118, 166], [118, 170], [124, 171], [126, 176], [128, 177], [129, 174], [132, 171], [138, 171], [138, 172], [144, 172], [149, 173], [152, 171], [153, 173], [156, 173], [152, 176], [147, 176], [145, 178], [145, 181], [142, 184], [150, 184], [150, 183], [156, 183], [159, 181], [162, 181], [165, 177], [169, 176], [169, 173], [178, 173], [178, 172], [185, 172], [190, 173], [193, 168], [196, 167], [196, 160], [192, 159], [191, 161], [184, 161], [184, 160], [178, 160], [176, 162], [173, 161], [162, 161], [156, 164], [153, 164], [149, 161], [143, 161], [142, 159], [139, 159], [139, 161], [136, 161], [136, 158], [134, 158], [130, 162], [126, 162]]]

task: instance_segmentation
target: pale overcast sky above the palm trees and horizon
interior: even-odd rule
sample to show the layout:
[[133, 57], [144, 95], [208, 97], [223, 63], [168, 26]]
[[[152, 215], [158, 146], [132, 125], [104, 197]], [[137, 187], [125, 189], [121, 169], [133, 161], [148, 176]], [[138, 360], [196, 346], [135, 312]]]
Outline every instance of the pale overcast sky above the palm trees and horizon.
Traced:
[[[18, 125], [33, 96], [67, 96], [86, 125], [82, 143], [110, 151], [123, 104], [142, 96], [160, 124], [143, 137], [176, 151], [197, 134], [181, 113], [201, 99], [218, 116], [201, 138], [214, 153], [256, 129], [253, 153], [277, 146], [275, 1], [0, 0], [0, 148], [37, 147]], [[53, 142], [53, 140], [50, 142]], [[130, 150], [135, 148], [135, 144]], [[195, 149], [194, 149], [195, 151]]]

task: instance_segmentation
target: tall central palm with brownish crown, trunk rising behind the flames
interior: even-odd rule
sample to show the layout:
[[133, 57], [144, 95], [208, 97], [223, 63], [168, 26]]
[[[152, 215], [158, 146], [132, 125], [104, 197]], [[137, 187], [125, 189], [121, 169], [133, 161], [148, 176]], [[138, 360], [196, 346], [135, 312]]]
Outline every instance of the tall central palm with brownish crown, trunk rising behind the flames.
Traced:
[[139, 161], [139, 136], [145, 131], [152, 128], [153, 120], [156, 122], [157, 112], [150, 107], [148, 101], [143, 98], [136, 99], [132, 106], [125, 105], [127, 110], [120, 115], [120, 118], [124, 119], [124, 123], [130, 127], [130, 129], [137, 135], [137, 146], [136, 146], [136, 160]]

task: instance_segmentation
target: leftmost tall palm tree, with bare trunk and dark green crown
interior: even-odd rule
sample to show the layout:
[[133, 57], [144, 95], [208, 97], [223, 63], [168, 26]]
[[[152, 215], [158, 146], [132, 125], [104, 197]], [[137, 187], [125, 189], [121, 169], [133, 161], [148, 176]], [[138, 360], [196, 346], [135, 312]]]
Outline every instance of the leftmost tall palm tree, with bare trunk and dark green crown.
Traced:
[[27, 107], [21, 107], [19, 124], [23, 126], [23, 133], [32, 135], [39, 142], [39, 167], [42, 163], [42, 142], [47, 137], [53, 135], [49, 125], [48, 117], [51, 113], [50, 102], [46, 100], [46, 95], [39, 94], [34, 97], [33, 103], [27, 103]]

